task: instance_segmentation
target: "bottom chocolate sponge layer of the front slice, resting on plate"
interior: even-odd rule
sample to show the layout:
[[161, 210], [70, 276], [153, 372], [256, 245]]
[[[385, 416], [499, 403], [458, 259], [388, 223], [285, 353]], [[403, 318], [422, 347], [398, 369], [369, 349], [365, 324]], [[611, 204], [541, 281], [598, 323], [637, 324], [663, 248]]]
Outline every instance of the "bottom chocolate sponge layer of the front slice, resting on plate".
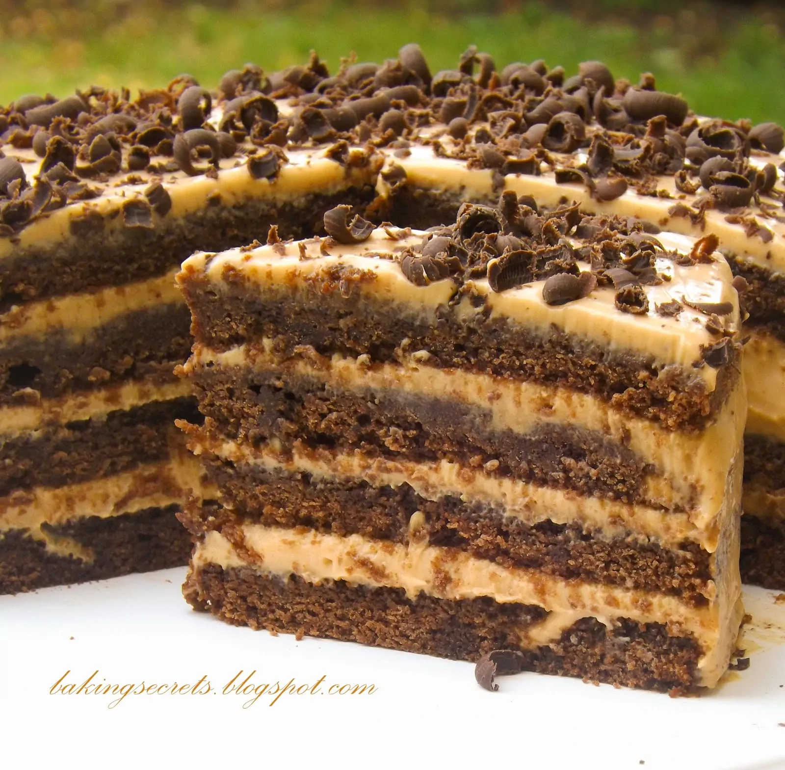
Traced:
[[[402, 589], [342, 581], [317, 586], [295, 576], [224, 571], [214, 564], [192, 571], [183, 590], [193, 607], [237, 626], [468, 661], [494, 649], [517, 649], [520, 632], [545, 616], [541, 608], [487, 597], [442, 600], [421, 594], [411, 600]], [[681, 695], [696, 688], [700, 654], [692, 637], [669, 636], [659, 623], [623, 619], [609, 632], [588, 618], [552, 644], [525, 651], [524, 670]]]

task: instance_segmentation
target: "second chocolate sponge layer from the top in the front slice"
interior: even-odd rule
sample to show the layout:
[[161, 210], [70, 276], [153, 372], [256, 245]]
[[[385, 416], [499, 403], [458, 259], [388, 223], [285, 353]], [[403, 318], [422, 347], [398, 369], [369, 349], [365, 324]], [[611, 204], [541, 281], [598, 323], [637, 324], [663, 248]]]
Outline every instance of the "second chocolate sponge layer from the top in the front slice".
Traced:
[[598, 433], [542, 422], [529, 434], [493, 430], [487, 411], [396, 391], [338, 390], [316, 378], [243, 368], [194, 378], [209, 435], [254, 446], [303, 447], [407, 462], [447, 460], [546, 487], [642, 502], [652, 469]]

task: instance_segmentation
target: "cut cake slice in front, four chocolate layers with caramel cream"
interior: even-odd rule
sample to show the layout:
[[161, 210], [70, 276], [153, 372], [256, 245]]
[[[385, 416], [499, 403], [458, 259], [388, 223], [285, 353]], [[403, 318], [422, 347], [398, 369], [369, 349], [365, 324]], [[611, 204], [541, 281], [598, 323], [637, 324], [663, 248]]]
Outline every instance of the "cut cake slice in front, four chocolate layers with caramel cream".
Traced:
[[184, 593], [254, 628], [633, 687], [735, 650], [747, 409], [714, 240], [506, 194], [195, 254]]

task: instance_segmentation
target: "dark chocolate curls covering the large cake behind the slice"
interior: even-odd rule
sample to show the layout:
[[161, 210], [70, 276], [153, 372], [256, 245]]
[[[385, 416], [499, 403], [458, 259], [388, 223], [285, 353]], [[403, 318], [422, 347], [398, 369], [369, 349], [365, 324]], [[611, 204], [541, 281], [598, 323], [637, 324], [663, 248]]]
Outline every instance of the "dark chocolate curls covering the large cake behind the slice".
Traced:
[[[469, 169], [491, 170], [498, 186], [510, 174], [556, 170], [558, 182], [584, 184], [599, 202], [630, 189], [689, 195], [672, 211], [696, 224], [709, 208], [747, 216], [754, 206], [756, 216], [776, 218], [785, 200], [775, 164], [759, 167], [750, 158], [783, 148], [785, 133], [775, 123], [698, 119], [682, 97], [657, 90], [652, 75], [630, 86], [597, 61], [583, 62], [571, 77], [542, 60], [499, 72], [473, 46], [457, 68], [433, 76], [410, 44], [382, 65], [349, 60], [334, 75], [312, 54], [305, 66], [270, 75], [246, 64], [228, 71], [215, 91], [181, 75], [135, 100], [127, 90], [96, 86], [61, 100], [21, 97], [0, 110], [0, 142], [12, 148], [6, 155], [43, 159], [27, 170], [53, 184], [42, 213], [106, 189], [68, 184], [82, 178], [104, 184], [142, 171], [148, 183], [177, 171], [216, 177], [221, 159], [236, 155], [252, 177], [269, 179], [288, 159], [266, 148], [327, 151], [326, 144], [347, 148], [327, 152], [347, 165], [363, 146], [366, 157], [378, 148], [405, 157], [425, 144]], [[26, 221], [16, 217], [3, 232], [18, 232]], [[771, 235], [762, 226], [757, 232]]]

